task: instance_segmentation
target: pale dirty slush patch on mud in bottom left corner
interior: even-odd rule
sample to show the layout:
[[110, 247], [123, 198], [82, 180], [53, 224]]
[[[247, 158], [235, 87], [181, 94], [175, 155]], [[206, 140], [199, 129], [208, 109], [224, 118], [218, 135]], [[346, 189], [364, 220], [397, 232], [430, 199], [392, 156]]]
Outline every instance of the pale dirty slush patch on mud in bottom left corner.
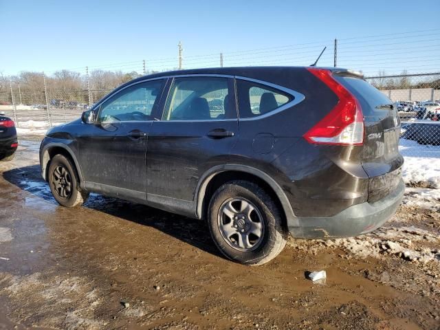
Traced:
[[39, 272], [12, 276], [0, 272], [2, 282], [6, 286], [0, 287], [0, 294], [13, 297], [21, 307], [14, 311], [14, 316], [32, 316], [34, 327], [109, 329], [108, 322], [96, 316], [97, 309], [102, 305], [102, 298], [98, 297], [102, 294], [90, 278]]

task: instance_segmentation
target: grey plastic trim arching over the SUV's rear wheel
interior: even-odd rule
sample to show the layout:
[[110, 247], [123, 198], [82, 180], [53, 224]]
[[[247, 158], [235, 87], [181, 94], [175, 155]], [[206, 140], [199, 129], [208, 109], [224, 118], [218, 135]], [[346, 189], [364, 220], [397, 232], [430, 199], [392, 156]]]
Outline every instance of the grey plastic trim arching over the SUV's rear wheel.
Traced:
[[295, 218], [292, 205], [290, 204], [289, 199], [287, 199], [285, 192], [281, 186], [270, 177], [270, 175], [258, 168], [240, 164], [214, 166], [213, 168], [210, 168], [201, 179], [199, 179], [199, 184], [196, 189], [197, 218], [202, 219], [203, 215], [206, 214], [210, 199], [209, 197], [213, 193], [212, 187], [216, 187], [218, 184], [233, 179], [248, 179], [248, 181], [254, 181], [256, 184], [262, 185], [262, 188], [268, 190], [267, 192], [272, 195], [271, 197], [274, 198], [281, 207], [285, 219]]

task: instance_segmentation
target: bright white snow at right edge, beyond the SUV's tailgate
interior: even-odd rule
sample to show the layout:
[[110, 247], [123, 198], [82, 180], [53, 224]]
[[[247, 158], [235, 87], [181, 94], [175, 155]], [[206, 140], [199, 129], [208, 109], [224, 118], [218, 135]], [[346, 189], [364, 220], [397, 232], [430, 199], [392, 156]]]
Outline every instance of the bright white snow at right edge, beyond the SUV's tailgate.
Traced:
[[440, 146], [400, 139], [399, 152], [405, 159], [402, 172], [405, 184], [440, 188]]

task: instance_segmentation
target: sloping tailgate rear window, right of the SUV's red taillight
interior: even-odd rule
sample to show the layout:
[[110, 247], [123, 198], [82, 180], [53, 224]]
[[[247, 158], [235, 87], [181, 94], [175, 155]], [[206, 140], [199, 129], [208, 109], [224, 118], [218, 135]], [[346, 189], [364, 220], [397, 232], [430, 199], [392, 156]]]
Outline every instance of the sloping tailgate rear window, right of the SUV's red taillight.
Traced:
[[[344, 87], [347, 87], [356, 98], [363, 98], [371, 108], [379, 104], [393, 103], [393, 101], [381, 93], [379, 89], [373, 87], [363, 79], [347, 76], [335, 76], [335, 78], [344, 85]], [[402, 105], [403, 104], [404, 103], [402, 103]]]

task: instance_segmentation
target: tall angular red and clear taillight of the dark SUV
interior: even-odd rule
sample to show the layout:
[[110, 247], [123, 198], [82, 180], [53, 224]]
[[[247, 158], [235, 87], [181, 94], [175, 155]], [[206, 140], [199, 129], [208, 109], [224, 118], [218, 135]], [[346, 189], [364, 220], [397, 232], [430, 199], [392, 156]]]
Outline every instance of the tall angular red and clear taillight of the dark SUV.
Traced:
[[307, 70], [325, 83], [339, 100], [336, 106], [305, 135], [315, 144], [362, 145], [364, 142], [364, 115], [358, 100], [331, 76], [328, 69], [308, 67]]

